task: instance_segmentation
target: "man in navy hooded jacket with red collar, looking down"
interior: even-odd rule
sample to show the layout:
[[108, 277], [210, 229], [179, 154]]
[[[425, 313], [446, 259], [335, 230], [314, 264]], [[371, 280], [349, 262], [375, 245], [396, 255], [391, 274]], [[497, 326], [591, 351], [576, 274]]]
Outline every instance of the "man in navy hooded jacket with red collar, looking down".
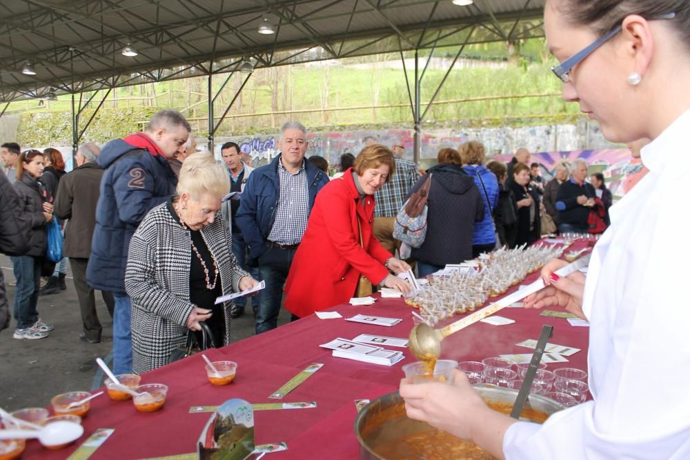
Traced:
[[93, 288], [115, 297], [112, 364], [116, 375], [132, 372], [131, 307], [124, 287], [130, 239], [148, 211], [175, 194], [177, 176], [168, 160], [184, 152], [189, 132], [181, 113], [161, 110], [153, 115], [146, 132], [108, 142], [98, 159], [106, 172], [86, 278]]

